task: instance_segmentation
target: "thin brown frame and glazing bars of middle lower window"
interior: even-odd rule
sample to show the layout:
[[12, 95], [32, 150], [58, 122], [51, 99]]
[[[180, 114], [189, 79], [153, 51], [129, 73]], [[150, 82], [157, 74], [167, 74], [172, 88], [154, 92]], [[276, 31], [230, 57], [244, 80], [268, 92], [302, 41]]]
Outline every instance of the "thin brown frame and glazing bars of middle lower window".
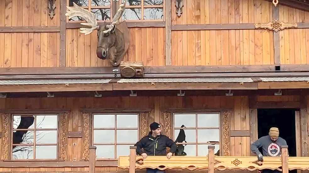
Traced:
[[[114, 145], [114, 157], [115, 158], [97, 158], [97, 160], [118, 160], [117, 158], [117, 145], [135, 145], [137, 141], [140, 140], [140, 112], [103, 112], [103, 113], [92, 113], [91, 114], [91, 145]], [[117, 128], [117, 115], [137, 115], [137, 128]], [[94, 128], [94, 116], [95, 115], [114, 115], [115, 116], [115, 125], [114, 128]], [[94, 143], [94, 130], [114, 130], [114, 143]], [[117, 130], [137, 130], [137, 141], [133, 143], [117, 143]], [[129, 148], [128, 148], [129, 150]]]

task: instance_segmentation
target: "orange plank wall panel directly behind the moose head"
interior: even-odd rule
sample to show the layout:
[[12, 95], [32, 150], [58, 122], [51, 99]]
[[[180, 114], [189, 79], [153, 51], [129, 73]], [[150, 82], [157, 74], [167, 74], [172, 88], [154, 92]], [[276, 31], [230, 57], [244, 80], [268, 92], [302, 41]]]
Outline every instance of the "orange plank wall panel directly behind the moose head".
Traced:
[[[165, 28], [129, 28], [129, 30], [130, 47], [124, 56], [124, 61], [143, 61], [145, 66], [165, 65]], [[108, 60], [97, 58], [97, 31], [86, 36], [79, 31], [80, 29], [66, 30], [66, 66], [111, 66]]]

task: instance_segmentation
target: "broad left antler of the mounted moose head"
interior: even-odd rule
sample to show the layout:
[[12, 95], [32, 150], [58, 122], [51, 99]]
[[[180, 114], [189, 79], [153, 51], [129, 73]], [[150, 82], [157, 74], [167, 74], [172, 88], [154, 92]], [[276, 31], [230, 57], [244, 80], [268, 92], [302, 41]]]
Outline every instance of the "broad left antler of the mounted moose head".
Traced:
[[84, 33], [85, 35], [88, 35], [92, 33], [94, 30], [98, 29], [98, 23], [97, 18], [94, 13], [89, 12], [88, 10], [81, 8], [76, 3], [73, 3], [73, 7], [68, 7], [69, 11], [66, 11], [66, 16], [70, 18], [73, 18], [75, 16], [83, 18], [87, 23], [80, 23], [81, 25], [89, 26], [91, 28], [80, 28], [80, 33]]

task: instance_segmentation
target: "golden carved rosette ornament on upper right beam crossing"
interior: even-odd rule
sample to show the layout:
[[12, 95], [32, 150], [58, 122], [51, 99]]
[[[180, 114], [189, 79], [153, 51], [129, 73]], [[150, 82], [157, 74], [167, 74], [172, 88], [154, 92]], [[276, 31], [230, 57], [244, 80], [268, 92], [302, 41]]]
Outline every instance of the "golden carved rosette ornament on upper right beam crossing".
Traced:
[[278, 32], [279, 30], [283, 30], [285, 28], [297, 28], [298, 23], [285, 23], [274, 19], [273, 21], [268, 23], [255, 23], [254, 27], [274, 30], [275, 32]]

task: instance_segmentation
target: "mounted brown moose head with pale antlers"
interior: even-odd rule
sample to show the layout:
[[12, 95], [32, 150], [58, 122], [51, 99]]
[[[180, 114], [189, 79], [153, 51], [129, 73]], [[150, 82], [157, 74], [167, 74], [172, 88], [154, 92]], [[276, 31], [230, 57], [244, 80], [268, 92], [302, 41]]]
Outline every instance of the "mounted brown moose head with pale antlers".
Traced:
[[96, 15], [84, 8], [73, 3], [73, 7], [67, 7], [69, 11], [65, 13], [70, 18], [80, 17], [87, 23], [80, 23], [91, 28], [80, 28], [80, 33], [85, 35], [91, 34], [97, 30], [98, 45], [97, 57], [100, 59], [108, 59], [114, 67], [119, 66], [130, 44], [130, 31], [125, 21], [120, 22], [120, 18], [124, 13], [126, 0], [119, 5], [119, 10], [113, 17], [111, 22], [104, 22], [98, 25]]

